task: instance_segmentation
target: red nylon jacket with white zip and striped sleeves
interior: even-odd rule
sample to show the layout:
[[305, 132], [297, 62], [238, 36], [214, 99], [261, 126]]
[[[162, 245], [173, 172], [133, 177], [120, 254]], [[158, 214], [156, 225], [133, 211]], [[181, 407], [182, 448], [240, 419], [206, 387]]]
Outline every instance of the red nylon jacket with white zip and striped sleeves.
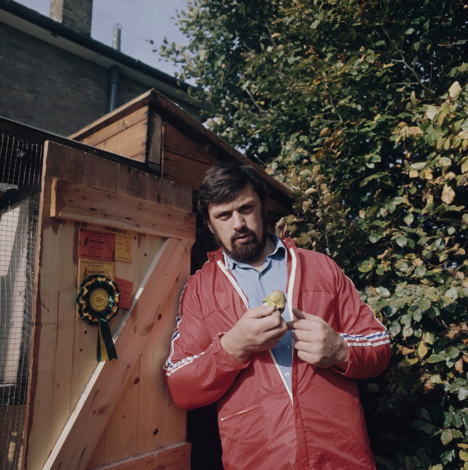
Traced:
[[375, 469], [354, 379], [387, 367], [387, 331], [332, 259], [283, 242], [289, 305], [342, 335], [347, 370], [314, 367], [294, 354], [290, 392], [270, 351], [252, 353], [245, 364], [225, 352], [220, 337], [247, 300], [218, 250], [182, 292], [164, 366], [170, 393], [184, 409], [217, 402], [225, 470]]

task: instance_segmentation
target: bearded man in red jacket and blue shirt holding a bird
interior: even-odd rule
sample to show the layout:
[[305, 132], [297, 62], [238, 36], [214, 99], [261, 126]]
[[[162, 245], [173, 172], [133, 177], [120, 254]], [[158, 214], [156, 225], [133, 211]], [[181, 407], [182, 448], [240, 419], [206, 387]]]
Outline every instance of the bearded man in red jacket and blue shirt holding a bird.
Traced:
[[[220, 249], [182, 292], [165, 365], [176, 404], [217, 402], [226, 470], [375, 469], [354, 379], [386, 368], [385, 328], [329, 257], [267, 234], [253, 168], [213, 166], [199, 211]], [[262, 305], [275, 289], [283, 316]]]

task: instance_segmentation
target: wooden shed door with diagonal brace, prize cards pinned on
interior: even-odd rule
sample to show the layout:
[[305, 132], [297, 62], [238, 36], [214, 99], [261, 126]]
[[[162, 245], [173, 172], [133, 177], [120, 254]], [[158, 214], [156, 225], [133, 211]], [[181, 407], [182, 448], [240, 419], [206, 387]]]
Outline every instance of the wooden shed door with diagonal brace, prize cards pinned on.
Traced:
[[[162, 364], [190, 272], [191, 189], [82, 149], [45, 143], [25, 468], [189, 469]], [[76, 314], [80, 283], [104, 262], [81, 251], [87, 231], [129, 243], [95, 268], [130, 292], [110, 321], [111, 362], [97, 361], [99, 328]]]

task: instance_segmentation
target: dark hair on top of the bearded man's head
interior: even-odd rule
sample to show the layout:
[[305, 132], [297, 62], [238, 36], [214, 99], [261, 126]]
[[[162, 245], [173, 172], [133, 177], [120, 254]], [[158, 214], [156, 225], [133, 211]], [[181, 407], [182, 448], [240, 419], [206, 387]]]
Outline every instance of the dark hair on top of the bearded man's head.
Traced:
[[267, 189], [259, 173], [247, 165], [234, 162], [218, 162], [206, 173], [200, 187], [198, 210], [206, 222], [210, 216], [210, 204], [223, 204], [232, 201], [245, 185], [251, 185], [257, 193], [262, 208], [267, 204]]

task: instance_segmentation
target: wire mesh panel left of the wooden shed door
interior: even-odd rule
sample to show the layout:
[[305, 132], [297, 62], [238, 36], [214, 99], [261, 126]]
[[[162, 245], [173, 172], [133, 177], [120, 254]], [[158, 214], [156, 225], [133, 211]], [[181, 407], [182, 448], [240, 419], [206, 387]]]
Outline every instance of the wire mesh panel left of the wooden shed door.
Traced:
[[0, 134], [0, 470], [22, 463], [42, 154]]

